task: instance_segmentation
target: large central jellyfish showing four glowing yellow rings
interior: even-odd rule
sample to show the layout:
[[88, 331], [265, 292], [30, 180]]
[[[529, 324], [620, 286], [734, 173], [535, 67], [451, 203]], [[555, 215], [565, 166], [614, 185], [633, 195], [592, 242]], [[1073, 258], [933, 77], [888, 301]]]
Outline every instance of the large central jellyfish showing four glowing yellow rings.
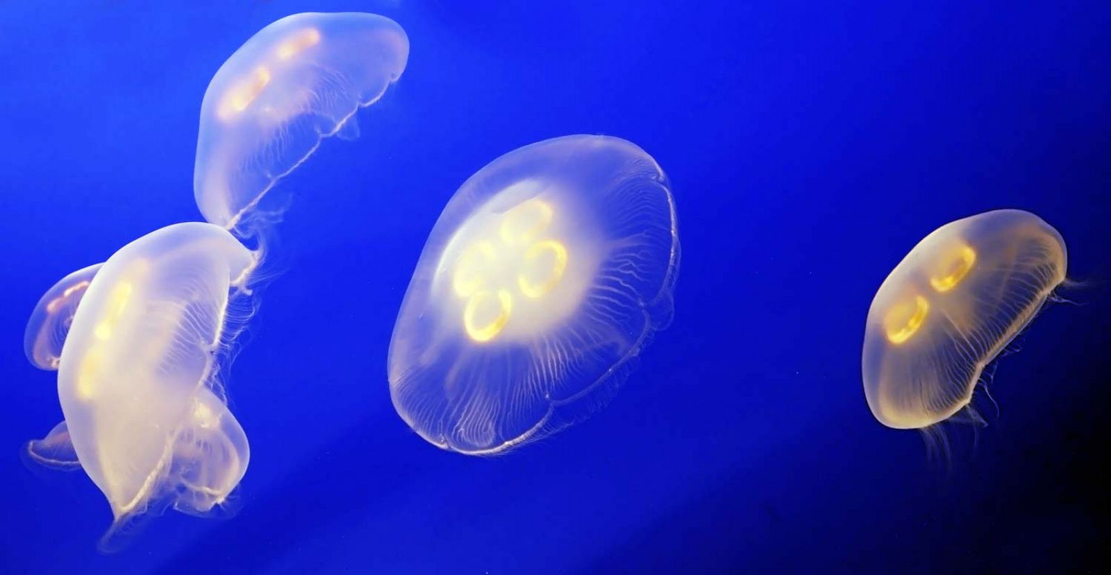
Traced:
[[472, 175], [429, 235], [398, 314], [398, 414], [444, 450], [491, 454], [573, 423], [672, 313], [668, 179], [637, 145], [569, 135]]

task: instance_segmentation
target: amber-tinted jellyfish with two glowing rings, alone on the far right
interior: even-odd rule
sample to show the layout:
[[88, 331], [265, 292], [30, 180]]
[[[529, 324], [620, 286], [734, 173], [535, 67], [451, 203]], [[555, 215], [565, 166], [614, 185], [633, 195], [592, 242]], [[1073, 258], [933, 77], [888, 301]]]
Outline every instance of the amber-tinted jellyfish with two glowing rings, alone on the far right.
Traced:
[[875, 418], [923, 428], [968, 406], [984, 366], [1033, 320], [1065, 266], [1061, 234], [1021, 210], [927, 235], [868, 311], [862, 371]]

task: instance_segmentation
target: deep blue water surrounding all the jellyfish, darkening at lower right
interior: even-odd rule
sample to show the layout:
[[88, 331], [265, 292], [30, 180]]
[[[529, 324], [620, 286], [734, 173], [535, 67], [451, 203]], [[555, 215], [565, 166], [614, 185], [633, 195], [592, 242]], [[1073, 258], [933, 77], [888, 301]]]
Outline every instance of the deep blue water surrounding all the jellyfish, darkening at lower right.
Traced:
[[[0, 12], [0, 571], [1099, 573], [1111, 505], [1107, 2], [9, 2]], [[283, 184], [276, 276], [230, 370], [251, 441], [228, 521], [167, 513], [100, 555], [108, 505], [18, 451], [61, 418], [22, 333], [42, 292], [192, 196], [209, 79], [267, 23], [364, 10], [401, 81]], [[397, 417], [386, 353], [464, 179], [569, 133], [668, 172], [675, 321], [592, 418], [513, 454]], [[860, 383], [880, 282], [934, 228], [1020, 208], [1087, 285], [951, 427], [949, 466]], [[1101, 567], [1102, 566], [1102, 567]]]

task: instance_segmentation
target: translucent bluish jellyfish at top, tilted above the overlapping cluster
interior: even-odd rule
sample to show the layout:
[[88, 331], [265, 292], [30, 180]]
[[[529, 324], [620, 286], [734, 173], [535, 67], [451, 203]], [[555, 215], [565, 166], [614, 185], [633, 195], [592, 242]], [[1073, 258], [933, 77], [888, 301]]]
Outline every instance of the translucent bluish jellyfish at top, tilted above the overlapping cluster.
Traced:
[[251, 37], [201, 103], [193, 193], [204, 219], [249, 233], [243, 218], [322, 139], [358, 135], [354, 113], [382, 97], [408, 58], [404, 30], [369, 13], [293, 14]]

